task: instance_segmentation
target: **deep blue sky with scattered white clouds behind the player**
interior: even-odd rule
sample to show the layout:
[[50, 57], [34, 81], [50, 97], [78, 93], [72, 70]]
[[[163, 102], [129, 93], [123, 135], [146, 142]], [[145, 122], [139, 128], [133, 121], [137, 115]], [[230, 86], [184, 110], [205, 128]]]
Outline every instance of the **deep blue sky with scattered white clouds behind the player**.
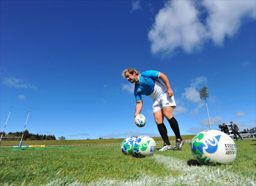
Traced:
[[[181, 136], [256, 125], [256, 1], [0, 1], [0, 131], [66, 139], [159, 136], [152, 99], [133, 123], [122, 70], [167, 75]], [[166, 119], [168, 135], [174, 136]]]

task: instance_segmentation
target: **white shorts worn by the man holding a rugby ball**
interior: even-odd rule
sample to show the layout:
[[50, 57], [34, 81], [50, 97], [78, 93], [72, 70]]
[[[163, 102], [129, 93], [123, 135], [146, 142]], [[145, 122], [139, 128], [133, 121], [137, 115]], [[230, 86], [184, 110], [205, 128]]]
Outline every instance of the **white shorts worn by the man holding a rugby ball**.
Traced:
[[174, 96], [171, 96], [170, 98], [167, 97], [167, 92], [165, 92], [158, 98], [153, 99], [153, 113], [167, 106], [171, 106], [173, 108], [176, 107]]

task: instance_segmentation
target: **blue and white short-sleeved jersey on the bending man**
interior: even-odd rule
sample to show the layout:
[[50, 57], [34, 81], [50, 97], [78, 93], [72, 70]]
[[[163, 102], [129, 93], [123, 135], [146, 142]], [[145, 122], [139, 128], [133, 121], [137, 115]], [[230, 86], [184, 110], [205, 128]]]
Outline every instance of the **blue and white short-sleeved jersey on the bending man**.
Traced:
[[167, 91], [164, 84], [159, 82], [159, 71], [149, 70], [139, 75], [139, 83], [135, 83], [134, 95], [136, 101], [141, 101], [141, 95], [149, 96], [153, 99], [159, 97]]

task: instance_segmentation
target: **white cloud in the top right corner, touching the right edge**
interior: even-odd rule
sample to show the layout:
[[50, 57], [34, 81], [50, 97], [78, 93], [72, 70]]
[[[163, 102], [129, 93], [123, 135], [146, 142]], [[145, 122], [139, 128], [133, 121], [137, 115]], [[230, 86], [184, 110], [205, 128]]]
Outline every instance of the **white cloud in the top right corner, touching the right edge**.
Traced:
[[255, 0], [203, 0], [202, 5], [208, 10], [206, 24], [216, 44], [222, 44], [225, 36], [233, 36], [243, 18], [256, 18]]

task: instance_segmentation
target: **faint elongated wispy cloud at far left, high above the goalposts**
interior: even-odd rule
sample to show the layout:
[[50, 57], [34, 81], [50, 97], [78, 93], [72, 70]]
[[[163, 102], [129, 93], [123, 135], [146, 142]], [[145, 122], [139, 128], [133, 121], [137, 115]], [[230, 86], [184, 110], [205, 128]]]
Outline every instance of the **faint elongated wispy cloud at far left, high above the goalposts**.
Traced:
[[22, 79], [17, 79], [14, 77], [7, 77], [3, 80], [3, 84], [14, 87], [14, 88], [23, 88], [23, 89], [34, 89], [37, 90], [37, 88], [34, 85], [30, 85], [28, 83], [24, 83]]

